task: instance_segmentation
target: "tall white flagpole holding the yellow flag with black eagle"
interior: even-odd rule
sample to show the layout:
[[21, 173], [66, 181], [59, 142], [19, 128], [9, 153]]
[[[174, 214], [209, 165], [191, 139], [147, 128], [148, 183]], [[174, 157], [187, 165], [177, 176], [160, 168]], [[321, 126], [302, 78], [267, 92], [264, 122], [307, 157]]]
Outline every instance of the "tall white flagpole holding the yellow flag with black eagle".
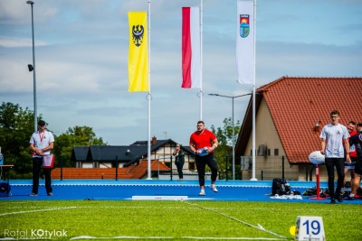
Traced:
[[151, 0], [148, 0], [148, 178], [151, 177]]

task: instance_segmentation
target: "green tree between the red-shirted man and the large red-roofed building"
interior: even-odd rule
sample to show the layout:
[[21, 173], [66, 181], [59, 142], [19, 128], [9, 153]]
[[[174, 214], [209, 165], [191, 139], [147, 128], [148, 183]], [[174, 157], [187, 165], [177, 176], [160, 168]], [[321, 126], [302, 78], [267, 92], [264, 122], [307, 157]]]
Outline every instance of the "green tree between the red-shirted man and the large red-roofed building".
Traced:
[[[236, 143], [237, 135], [240, 132], [240, 121], [237, 121], [236, 124], [233, 126], [233, 119], [231, 117], [224, 118], [223, 128], [217, 127], [215, 129], [214, 125], [211, 125], [211, 130], [216, 135], [217, 141], [219, 142], [219, 146], [216, 148], [214, 155], [218, 162], [220, 179], [225, 179], [226, 173], [227, 178], [231, 179], [231, 177], [233, 176], [230, 164], [233, 160], [233, 138], [234, 143]], [[228, 162], [227, 171], [226, 162]], [[235, 172], [237, 172], [237, 170], [238, 169], [235, 166]]]

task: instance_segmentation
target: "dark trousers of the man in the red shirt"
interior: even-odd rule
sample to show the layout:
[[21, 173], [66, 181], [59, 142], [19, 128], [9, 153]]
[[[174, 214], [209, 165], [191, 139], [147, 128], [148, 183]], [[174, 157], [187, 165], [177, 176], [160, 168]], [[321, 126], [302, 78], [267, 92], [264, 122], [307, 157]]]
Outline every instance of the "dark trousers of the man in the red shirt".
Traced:
[[216, 181], [217, 178], [217, 161], [214, 157], [214, 153], [205, 155], [205, 156], [199, 156], [196, 155], [195, 158], [196, 162], [196, 168], [198, 172], [198, 183], [200, 186], [205, 186], [205, 167], [206, 164], [211, 169], [211, 181]]

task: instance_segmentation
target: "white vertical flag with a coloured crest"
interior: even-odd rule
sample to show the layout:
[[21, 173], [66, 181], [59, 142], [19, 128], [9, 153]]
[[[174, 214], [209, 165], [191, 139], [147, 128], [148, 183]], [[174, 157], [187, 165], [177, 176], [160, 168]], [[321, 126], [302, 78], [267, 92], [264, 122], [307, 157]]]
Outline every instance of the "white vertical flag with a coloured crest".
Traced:
[[255, 84], [254, 1], [237, 1], [236, 63], [238, 82]]

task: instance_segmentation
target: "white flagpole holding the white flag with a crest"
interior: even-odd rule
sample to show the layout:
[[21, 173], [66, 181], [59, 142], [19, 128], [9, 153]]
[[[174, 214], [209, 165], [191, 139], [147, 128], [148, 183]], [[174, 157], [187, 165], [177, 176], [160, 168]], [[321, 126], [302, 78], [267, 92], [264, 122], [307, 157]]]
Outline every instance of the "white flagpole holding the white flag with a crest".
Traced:
[[253, 62], [253, 86], [252, 86], [252, 179], [251, 181], [258, 181], [255, 177], [255, 129], [256, 129], [256, 126], [255, 126], [255, 86], [256, 86], [256, 68], [255, 68], [255, 65], [256, 65], [256, 51], [255, 51], [255, 23], [256, 23], [256, 0], [253, 0], [253, 23], [252, 23], [252, 27], [253, 27], [253, 33], [252, 36], [253, 36], [253, 54], [254, 54], [254, 62]]

